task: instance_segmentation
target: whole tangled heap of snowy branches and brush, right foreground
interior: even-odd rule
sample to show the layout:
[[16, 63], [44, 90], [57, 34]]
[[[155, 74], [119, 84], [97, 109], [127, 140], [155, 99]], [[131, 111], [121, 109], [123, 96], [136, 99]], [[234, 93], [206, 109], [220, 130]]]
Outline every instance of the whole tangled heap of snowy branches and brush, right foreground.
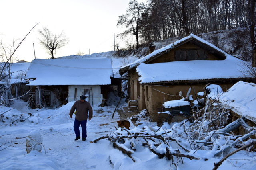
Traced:
[[[143, 114], [145, 115], [145, 113]], [[218, 157], [228, 152], [230, 148], [239, 148], [254, 141], [249, 137], [256, 133], [256, 128], [246, 125], [242, 118], [228, 123], [229, 114], [229, 108], [221, 106], [216, 100], [208, 100], [204, 108], [192, 116], [193, 123], [187, 120], [170, 127], [167, 122], [164, 122], [160, 128], [156, 128], [150, 127], [149, 122], [140, 122], [138, 124], [141, 126], [138, 125], [134, 129], [116, 128], [113, 133], [99, 137], [90, 143], [107, 139], [113, 143], [114, 148], [121, 150], [133, 162], [136, 162], [136, 158], [134, 158], [136, 146], [148, 147], [159, 158], [166, 157], [171, 160], [171, 164], [177, 168], [178, 163], [183, 162], [183, 158], [207, 160], [202, 155], [198, 156], [200, 155], [196, 153], [198, 150], [206, 150], [211, 152], [214, 157]], [[141, 116], [139, 116], [139, 120], [142, 120], [140, 118], [142, 118]], [[234, 135], [232, 131], [241, 125], [249, 133]]]

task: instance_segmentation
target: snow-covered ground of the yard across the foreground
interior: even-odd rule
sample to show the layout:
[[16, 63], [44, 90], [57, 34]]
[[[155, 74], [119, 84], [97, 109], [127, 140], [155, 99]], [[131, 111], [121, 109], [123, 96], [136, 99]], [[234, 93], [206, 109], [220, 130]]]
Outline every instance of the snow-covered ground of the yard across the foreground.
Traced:
[[[0, 122], [0, 169], [175, 170], [174, 165], [170, 167], [170, 160], [166, 158], [159, 159], [148, 147], [142, 146], [139, 140], [135, 141], [136, 151], [132, 154], [136, 163], [126, 154], [114, 148], [112, 142], [107, 139], [102, 139], [97, 143], [90, 143], [90, 141], [98, 137], [115, 131], [114, 126], [118, 126], [116, 121], [120, 120], [120, 118], [117, 113], [112, 119], [112, 113], [115, 109], [114, 100], [109, 103], [108, 107], [93, 107], [94, 117], [87, 123], [88, 137], [86, 141], [81, 139], [74, 141], [74, 118], [71, 119], [68, 115], [74, 102], [70, 102], [56, 110], [29, 110], [26, 107], [26, 102], [19, 100], [15, 100], [15, 104], [12, 105], [12, 108], [15, 109], [1, 107], [0, 114], [10, 109], [12, 110], [4, 113], [9, 116], [9, 119], [4, 119], [5, 122]], [[32, 113], [34, 116], [29, 117], [28, 113]], [[29, 118], [24, 122], [12, 123], [16, 120], [12, 120], [13, 115], [20, 117], [21, 114], [23, 114], [23, 117]], [[147, 124], [140, 125], [140, 127], [145, 125]], [[155, 126], [154, 123], [150, 125], [152, 127]], [[164, 127], [170, 128], [170, 125]], [[134, 125], [131, 123], [130, 129], [133, 128]], [[22, 137], [26, 137], [31, 131], [40, 132], [43, 137], [44, 148], [42, 148], [41, 152], [32, 151], [27, 154], [25, 151], [26, 138]], [[16, 137], [21, 139], [16, 139]], [[173, 148], [178, 148], [176, 143], [171, 142], [170, 144]], [[196, 155], [202, 159], [189, 160], [188, 158], [183, 158], [183, 164], [179, 162], [177, 169], [211, 170], [214, 167], [214, 162], [218, 162], [221, 159], [213, 158], [207, 150], [198, 150]], [[177, 159], [174, 158], [174, 161], [177, 162]], [[240, 151], [229, 157], [219, 169], [255, 170], [255, 167], [256, 153], [250, 152], [248, 154], [246, 151]]]

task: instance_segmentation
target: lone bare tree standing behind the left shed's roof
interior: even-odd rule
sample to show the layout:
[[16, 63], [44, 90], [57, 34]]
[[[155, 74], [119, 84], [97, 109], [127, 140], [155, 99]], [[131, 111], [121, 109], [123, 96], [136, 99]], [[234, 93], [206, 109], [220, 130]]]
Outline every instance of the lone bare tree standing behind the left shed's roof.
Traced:
[[54, 50], [60, 49], [68, 44], [68, 38], [66, 38], [63, 30], [57, 35], [53, 34], [48, 28], [42, 27], [42, 29], [38, 30], [38, 33], [41, 36], [41, 38], [38, 38], [39, 44], [46, 49], [48, 54], [52, 56], [52, 59], [54, 59]]

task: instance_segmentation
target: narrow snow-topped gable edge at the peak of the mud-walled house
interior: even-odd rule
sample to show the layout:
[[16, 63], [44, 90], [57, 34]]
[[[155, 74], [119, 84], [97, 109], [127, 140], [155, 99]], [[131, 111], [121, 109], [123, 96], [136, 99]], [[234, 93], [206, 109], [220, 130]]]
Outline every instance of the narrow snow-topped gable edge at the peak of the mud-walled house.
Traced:
[[136, 61], [134, 61], [133, 63], [131, 64], [128, 64], [126, 66], [123, 66], [120, 68], [120, 70], [122, 69], [131, 69], [131, 68], [135, 68], [136, 66], [138, 66], [140, 63], [145, 63], [146, 61], [149, 61], [150, 59], [158, 56], [158, 55], [162, 55], [164, 53], [166, 53], [168, 50], [171, 50], [171, 49], [174, 49], [175, 47], [177, 47], [178, 45], [182, 45], [183, 43], [186, 43], [188, 41], [197, 41], [199, 42], [200, 44], [203, 44], [205, 45], [206, 47], [208, 47], [209, 49], [211, 50], [214, 50], [215, 53], [218, 53], [219, 55], [223, 56], [223, 57], [226, 57], [228, 54], [225, 53], [224, 51], [222, 51], [221, 49], [219, 49], [218, 47], [212, 45], [211, 43], [201, 39], [200, 37], [194, 35], [194, 34], [190, 34], [188, 35], [187, 37], [184, 37], [170, 45], [167, 45], [166, 47], [163, 47], [161, 49], [158, 49], [158, 50], [155, 50], [154, 52], [152, 52], [151, 54], [145, 56], [145, 57], [142, 57], [141, 59], [138, 59]]

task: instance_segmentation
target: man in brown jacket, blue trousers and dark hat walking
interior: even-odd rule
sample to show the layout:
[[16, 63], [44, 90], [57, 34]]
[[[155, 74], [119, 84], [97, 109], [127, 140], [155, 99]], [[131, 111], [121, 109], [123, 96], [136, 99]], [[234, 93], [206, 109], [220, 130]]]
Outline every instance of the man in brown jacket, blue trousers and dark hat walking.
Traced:
[[82, 140], [85, 141], [87, 134], [86, 134], [86, 123], [87, 123], [87, 118], [88, 118], [88, 111], [89, 111], [89, 120], [92, 119], [92, 106], [90, 105], [89, 102], [85, 100], [85, 96], [81, 95], [80, 100], [76, 101], [74, 105], [70, 109], [70, 118], [72, 118], [72, 115], [76, 109], [76, 117], [75, 117], [75, 122], [74, 122], [74, 130], [76, 134], [76, 139], [80, 139], [80, 131], [79, 131], [79, 126], [81, 125], [82, 127]]

